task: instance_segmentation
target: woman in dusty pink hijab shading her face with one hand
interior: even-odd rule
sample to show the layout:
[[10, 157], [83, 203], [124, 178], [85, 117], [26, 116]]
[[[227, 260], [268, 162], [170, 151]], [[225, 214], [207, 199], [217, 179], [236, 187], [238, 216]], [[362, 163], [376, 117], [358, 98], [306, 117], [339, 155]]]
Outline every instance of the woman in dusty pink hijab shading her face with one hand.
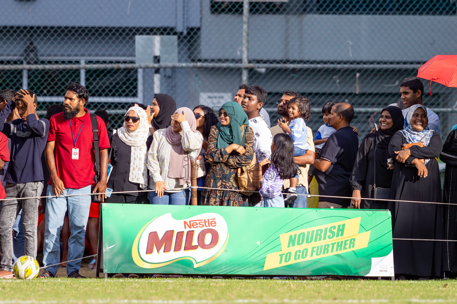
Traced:
[[155, 130], [148, 152], [150, 204], [189, 205], [191, 160], [202, 149], [203, 137], [190, 108], [171, 115], [171, 125]]

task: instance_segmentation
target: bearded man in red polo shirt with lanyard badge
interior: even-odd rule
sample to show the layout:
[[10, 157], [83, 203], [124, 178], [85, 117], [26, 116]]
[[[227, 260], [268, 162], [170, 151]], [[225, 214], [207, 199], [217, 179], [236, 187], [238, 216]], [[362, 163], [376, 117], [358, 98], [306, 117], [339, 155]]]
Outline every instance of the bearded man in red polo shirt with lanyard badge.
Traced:
[[[84, 254], [84, 236], [90, 210], [90, 189], [94, 184], [95, 152], [90, 114], [84, 106], [89, 100], [87, 89], [79, 83], [70, 83], [66, 88], [64, 112], [53, 115], [49, 120], [46, 160], [51, 179], [48, 182], [46, 229], [44, 232], [43, 264], [45, 272], [39, 278], [54, 277], [60, 262], [59, 237], [68, 206], [70, 238], [68, 248], [67, 275], [82, 278], [79, 273]], [[110, 143], [106, 125], [97, 116], [100, 148], [100, 181], [94, 192], [106, 192], [108, 170], [108, 148]], [[65, 196], [70, 194], [86, 194]], [[106, 195], [99, 195], [102, 199]]]

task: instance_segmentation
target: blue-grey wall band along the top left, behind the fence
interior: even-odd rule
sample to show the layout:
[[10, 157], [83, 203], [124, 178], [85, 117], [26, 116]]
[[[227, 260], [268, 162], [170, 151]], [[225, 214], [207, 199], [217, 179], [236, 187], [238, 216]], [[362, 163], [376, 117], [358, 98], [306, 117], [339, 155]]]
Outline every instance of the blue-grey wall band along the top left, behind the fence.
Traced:
[[200, 26], [200, 0], [4, 0], [0, 26]]

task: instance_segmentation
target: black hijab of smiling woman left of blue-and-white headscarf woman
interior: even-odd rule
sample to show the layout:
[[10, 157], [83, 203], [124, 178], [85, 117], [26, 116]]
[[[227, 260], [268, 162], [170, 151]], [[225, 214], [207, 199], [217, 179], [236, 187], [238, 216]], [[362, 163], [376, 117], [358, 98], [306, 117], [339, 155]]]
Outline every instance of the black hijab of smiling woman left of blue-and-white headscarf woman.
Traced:
[[[379, 173], [387, 170], [387, 160], [389, 157], [389, 143], [390, 139], [392, 139], [393, 134], [395, 132], [403, 129], [404, 118], [403, 113], [399, 107], [395, 106], [388, 106], [387, 108], [383, 108], [383, 111], [387, 110], [390, 113], [390, 117], [392, 117], [393, 126], [390, 129], [383, 130], [379, 128], [376, 135], [376, 165], [377, 168], [380, 169]], [[381, 111], [381, 113], [383, 113]], [[379, 176], [379, 175], [378, 175]]]

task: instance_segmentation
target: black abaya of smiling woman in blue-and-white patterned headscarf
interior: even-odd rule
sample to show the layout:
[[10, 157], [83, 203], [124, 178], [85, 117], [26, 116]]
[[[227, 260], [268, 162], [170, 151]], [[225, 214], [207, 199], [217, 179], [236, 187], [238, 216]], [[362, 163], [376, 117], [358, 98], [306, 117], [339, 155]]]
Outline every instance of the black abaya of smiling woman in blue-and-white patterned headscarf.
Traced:
[[[392, 159], [397, 156], [403, 144], [408, 142], [403, 134], [397, 132], [389, 144]], [[390, 198], [407, 201], [441, 202], [441, 181], [438, 162], [442, 143], [440, 136], [433, 132], [426, 147], [413, 146], [411, 156], [405, 164], [414, 158], [430, 159], [425, 165], [426, 178], [419, 177], [416, 167], [394, 161], [393, 179]], [[392, 213], [393, 238], [441, 239], [443, 227], [443, 207], [438, 204], [390, 202]], [[410, 274], [420, 277], [442, 277], [441, 268], [442, 242], [433, 241], [393, 241], [393, 263], [395, 273]]]

